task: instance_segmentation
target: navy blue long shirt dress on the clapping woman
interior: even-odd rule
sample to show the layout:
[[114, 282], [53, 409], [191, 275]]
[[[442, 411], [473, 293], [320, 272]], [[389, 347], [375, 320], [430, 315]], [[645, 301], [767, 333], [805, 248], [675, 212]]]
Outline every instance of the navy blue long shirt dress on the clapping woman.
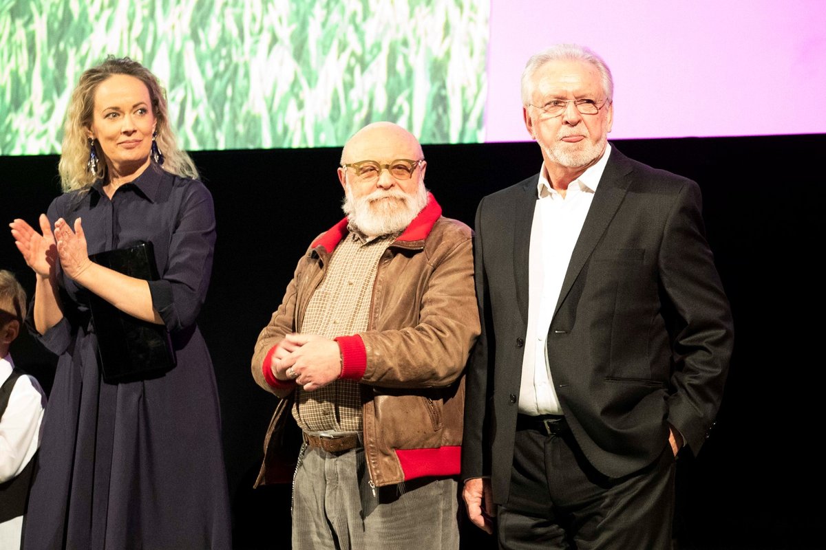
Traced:
[[104, 382], [88, 291], [59, 271], [64, 318], [40, 337], [59, 361], [24, 548], [230, 548], [218, 393], [195, 323], [216, 238], [209, 190], [152, 163], [112, 200], [98, 182], [60, 195], [47, 215], [53, 226], [81, 218], [89, 254], [153, 243], [152, 303], [178, 364], [159, 378]]

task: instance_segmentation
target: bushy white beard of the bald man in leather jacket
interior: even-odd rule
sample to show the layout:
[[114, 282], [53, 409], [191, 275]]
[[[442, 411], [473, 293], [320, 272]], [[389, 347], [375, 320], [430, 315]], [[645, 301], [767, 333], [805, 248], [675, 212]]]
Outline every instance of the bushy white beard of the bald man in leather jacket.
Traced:
[[353, 197], [349, 183], [344, 190], [341, 209], [350, 225], [367, 237], [379, 237], [405, 229], [427, 205], [427, 189], [421, 181], [415, 195], [401, 190], [375, 190], [370, 195]]

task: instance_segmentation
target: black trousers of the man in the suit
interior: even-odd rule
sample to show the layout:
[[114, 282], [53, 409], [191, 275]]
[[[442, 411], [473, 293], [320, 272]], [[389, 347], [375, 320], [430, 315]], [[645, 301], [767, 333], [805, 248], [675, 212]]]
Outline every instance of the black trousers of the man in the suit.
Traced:
[[667, 440], [654, 463], [610, 478], [588, 463], [564, 425], [548, 434], [525, 424], [516, 431], [510, 496], [496, 518], [499, 548], [671, 548], [675, 460]]

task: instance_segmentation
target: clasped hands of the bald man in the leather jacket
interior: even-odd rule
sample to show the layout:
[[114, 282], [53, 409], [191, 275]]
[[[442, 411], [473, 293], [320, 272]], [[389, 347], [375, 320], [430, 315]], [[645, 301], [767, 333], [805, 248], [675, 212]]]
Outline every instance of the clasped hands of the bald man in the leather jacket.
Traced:
[[311, 392], [341, 376], [339, 344], [317, 334], [287, 334], [273, 352], [270, 369], [275, 378], [295, 380]]

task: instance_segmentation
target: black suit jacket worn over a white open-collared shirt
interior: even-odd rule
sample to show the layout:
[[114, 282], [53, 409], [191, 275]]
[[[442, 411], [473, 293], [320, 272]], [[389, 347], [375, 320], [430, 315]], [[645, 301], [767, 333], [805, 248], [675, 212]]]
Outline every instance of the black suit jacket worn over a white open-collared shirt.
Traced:
[[[510, 486], [528, 324], [539, 174], [487, 195], [476, 217], [482, 334], [467, 378], [463, 478]], [[733, 327], [694, 181], [612, 147], [548, 332], [548, 362], [577, 443], [621, 477], [652, 463], [676, 426], [695, 454], [717, 413]]]

